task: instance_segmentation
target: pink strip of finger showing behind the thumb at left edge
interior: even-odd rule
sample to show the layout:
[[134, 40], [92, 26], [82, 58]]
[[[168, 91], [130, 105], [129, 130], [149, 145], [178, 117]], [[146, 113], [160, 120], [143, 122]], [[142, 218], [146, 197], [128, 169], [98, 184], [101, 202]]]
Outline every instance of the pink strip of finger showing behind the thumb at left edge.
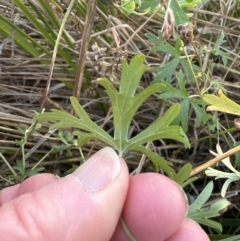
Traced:
[[4, 188], [0, 191], [0, 206], [24, 193], [33, 192], [41, 187], [44, 187], [57, 179], [58, 177], [52, 174], [38, 174], [26, 179], [21, 184]]

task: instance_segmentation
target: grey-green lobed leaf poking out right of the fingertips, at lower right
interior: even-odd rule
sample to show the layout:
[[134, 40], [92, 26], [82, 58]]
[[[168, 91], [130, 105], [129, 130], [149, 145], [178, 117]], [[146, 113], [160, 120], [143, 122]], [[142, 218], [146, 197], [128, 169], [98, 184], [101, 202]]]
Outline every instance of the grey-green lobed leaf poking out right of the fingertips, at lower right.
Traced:
[[213, 191], [213, 182], [203, 189], [198, 195], [196, 200], [189, 206], [188, 218], [195, 220], [196, 222], [212, 227], [215, 230], [222, 232], [222, 226], [220, 223], [210, 220], [209, 218], [218, 217], [226, 210], [230, 205], [227, 199], [221, 199], [213, 204], [203, 207], [206, 201], [209, 199]]

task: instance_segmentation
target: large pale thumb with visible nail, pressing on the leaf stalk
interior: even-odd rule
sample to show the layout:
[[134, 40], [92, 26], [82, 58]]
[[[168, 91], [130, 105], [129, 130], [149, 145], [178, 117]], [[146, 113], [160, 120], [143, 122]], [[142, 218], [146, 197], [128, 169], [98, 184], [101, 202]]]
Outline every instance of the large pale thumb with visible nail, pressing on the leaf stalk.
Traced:
[[73, 174], [4, 204], [1, 240], [110, 240], [126, 198], [128, 178], [123, 159], [104, 148]]

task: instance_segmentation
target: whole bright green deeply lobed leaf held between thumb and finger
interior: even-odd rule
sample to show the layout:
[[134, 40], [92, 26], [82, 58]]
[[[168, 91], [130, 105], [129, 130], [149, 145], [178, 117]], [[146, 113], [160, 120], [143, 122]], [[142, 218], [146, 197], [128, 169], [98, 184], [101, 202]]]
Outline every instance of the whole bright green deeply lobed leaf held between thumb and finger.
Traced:
[[[78, 137], [78, 144], [83, 145], [90, 139], [98, 139], [116, 149], [120, 155], [126, 151], [139, 151], [146, 154], [153, 162], [156, 171], [163, 168], [168, 173], [175, 173], [168, 169], [169, 163], [163, 158], [147, 150], [143, 145], [147, 142], [158, 139], [173, 139], [182, 142], [185, 147], [189, 147], [188, 139], [180, 126], [171, 125], [180, 111], [180, 105], [172, 105], [166, 113], [148, 126], [144, 131], [135, 137], [128, 139], [128, 130], [134, 114], [140, 105], [152, 94], [161, 90], [164, 86], [155, 83], [143, 91], [136, 93], [141, 76], [146, 70], [143, 65], [145, 57], [137, 54], [131, 60], [130, 64], [126, 60], [122, 61], [122, 74], [119, 91], [107, 79], [99, 79], [98, 83], [106, 89], [106, 93], [111, 101], [114, 136], [110, 136], [101, 127], [94, 123], [89, 117], [78, 100], [71, 97], [72, 107], [78, 117], [69, 113], [52, 110], [51, 112], [37, 115], [34, 119], [38, 121], [57, 121], [51, 126], [51, 129], [75, 128], [73, 135]], [[174, 174], [173, 174], [174, 176]]]

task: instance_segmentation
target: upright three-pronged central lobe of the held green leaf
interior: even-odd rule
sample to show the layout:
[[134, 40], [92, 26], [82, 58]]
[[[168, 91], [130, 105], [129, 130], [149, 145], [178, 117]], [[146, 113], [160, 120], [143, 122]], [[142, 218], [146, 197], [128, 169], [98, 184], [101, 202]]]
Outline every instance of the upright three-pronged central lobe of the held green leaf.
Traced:
[[129, 65], [124, 61], [120, 93], [109, 80], [98, 79], [98, 83], [106, 89], [111, 101], [114, 118], [114, 140], [119, 145], [119, 150], [126, 148], [128, 130], [137, 109], [150, 95], [163, 88], [162, 84], [154, 84], [134, 96], [140, 78], [146, 69], [143, 62], [144, 56], [140, 54], [137, 54]]

